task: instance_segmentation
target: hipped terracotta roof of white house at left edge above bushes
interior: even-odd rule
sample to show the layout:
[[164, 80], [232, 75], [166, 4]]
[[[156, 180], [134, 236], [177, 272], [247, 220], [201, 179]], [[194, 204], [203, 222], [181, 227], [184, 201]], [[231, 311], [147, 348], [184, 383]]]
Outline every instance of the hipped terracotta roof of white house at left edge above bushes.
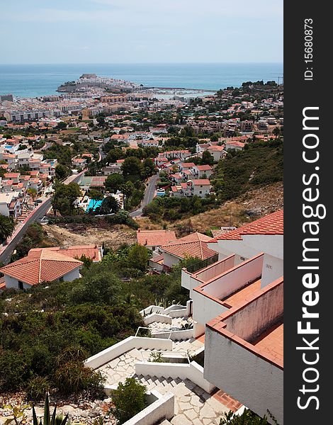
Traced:
[[35, 252], [29, 251], [28, 256], [0, 268], [0, 271], [28, 285], [38, 285], [41, 282], [52, 282], [62, 278], [82, 264], [70, 256], [40, 249]]

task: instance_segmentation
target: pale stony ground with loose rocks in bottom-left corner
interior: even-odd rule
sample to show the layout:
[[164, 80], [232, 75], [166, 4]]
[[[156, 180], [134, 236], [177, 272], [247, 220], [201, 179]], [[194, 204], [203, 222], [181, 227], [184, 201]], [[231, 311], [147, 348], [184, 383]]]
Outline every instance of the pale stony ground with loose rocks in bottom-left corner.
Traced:
[[[32, 424], [33, 422], [33, 409], [24, 399], [24, 395], [18, 393], [16, 395], [0, 396], [0, 425], [9, 424], [9, 419], [14, 419], [13, 408], [19, 407], [19, 410], [23, 411], [23, 416], [18, 419], [19, 424]], [[50, 411], [53, 412], [55, 403], [50, 400]], [[115, 419], [109, 410], [111, 407], [111, 399], [106, 398], [103, 400], [94, 400], [89, 402], [86, 399], [82, 400], [58, 400], [57, 402], [57, 414], [69, 414], [72, 425], [75, 424], [87, 424], [87, 425], [99, 425], [101, 419], [103, 419], [103, 425], [114, 425], [116, 424]], [[38, 403], [35, 406], [35, 411], [38, 417], [44, 415], [44, 404]], [[15, 424], [14, 420], [11, 422]]]

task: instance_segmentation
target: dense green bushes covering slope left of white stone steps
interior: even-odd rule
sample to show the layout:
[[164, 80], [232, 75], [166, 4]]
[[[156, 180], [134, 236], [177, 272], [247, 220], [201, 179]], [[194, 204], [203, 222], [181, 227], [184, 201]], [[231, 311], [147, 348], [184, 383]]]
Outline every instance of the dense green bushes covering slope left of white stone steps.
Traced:
[[84, 359], [134, 335], [144, 326], [143, 307], [188, 300], [181, 268], [197, 259], [182, 261], [170, 275], [154, 276], [146, 274], [148, 259], [144, 246], [122, 246], [101, 263], [86, 263], [82, 278], [73, 282], [1, 295], [0, 391], [23, 390], [29, 399], [42, 398], [45, 391], [98, 396], [103, 380], [84, 368]]

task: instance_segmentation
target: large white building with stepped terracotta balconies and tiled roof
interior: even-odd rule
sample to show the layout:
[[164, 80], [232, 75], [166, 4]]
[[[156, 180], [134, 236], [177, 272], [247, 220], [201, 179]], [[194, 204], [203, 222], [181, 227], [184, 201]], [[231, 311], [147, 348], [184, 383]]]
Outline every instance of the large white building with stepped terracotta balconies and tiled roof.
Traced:
[[182, 271], [206, 380], [283, 424], [283, 211], [208, 241], [219, 260]]

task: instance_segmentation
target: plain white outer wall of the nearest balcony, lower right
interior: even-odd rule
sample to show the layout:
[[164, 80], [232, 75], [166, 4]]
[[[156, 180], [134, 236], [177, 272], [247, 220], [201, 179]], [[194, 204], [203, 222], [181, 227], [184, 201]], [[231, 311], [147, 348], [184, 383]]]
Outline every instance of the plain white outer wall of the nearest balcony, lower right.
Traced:
[[206, 328], [204, 378], [264, 416], [283, 424], [283, 370]]

